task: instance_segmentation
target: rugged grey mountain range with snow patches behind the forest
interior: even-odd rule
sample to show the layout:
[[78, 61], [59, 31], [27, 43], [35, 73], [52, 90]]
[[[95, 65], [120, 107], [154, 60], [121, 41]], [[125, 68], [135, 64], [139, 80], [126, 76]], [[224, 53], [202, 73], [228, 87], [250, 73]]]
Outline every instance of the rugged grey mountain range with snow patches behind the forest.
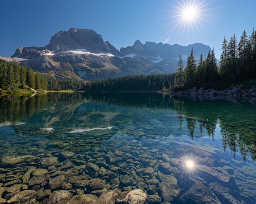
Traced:
[[177, 58], [183, 56], [184, 65], [194, 48], [195, 57], [212, 51], [208, 45], [169, 45], [136, 40], [134, 45], [117, 50], [93, 30], [70, 28], [59, 31], [44, 47], [20, 47], [6, 61], [49, 77], [93, 80], [129, 74], [163, 74], [176, 71]]

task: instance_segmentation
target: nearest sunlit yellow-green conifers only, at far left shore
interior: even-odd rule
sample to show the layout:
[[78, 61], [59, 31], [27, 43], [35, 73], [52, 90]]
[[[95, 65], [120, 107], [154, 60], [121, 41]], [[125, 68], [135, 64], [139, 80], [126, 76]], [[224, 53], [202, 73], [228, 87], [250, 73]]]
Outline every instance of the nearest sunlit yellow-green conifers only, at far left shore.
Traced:
[[47, 90], [47, 79], [32, 68], [20, 66], [17, 62], [6, 62], [0, 59], [0, 88], [17, 91], [19, 89], [35, 88]]

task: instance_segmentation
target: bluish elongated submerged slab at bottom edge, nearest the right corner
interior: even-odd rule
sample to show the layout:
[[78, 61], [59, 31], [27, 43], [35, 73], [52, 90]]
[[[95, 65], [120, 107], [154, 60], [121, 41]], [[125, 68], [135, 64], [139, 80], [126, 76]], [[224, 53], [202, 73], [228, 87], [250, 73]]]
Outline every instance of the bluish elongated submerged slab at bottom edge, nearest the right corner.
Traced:
[[[225, 188], [223, 185], [213, 182], [209, 184], [209, 189], [217, 195], [218, 199], [221, 201], [221, 203], [224, 204], [241, 204], [236, 198], [233, 197], [231, 190], [228, 188]], [[236, 192], [236, 197], [239, 195], [239, 193]], [[239, 196], [240, 197], [240, 196]], [[240, 198], [241, 201], [241, 198]]]

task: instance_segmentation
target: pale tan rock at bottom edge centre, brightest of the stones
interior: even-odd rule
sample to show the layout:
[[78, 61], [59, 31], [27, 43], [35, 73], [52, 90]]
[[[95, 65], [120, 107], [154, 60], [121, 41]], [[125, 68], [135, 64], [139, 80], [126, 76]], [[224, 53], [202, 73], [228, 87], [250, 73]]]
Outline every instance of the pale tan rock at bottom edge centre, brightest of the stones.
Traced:
[[143, 190], [132, 190], [125, 198], [118, 198], [116, 204], [148, 204], [148, 195]]

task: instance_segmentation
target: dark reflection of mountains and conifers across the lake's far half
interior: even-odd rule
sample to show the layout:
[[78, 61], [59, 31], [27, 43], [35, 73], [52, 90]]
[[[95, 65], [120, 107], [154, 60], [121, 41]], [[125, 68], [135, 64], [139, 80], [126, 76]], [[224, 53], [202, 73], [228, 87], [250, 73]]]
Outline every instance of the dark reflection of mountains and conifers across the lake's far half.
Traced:
[[[202, 101], [158, 93], [49, 93], [2, 96], [0, 107], [0, 127], [11, 125], [22, 135], [44, 135], [53, 146], [74, 137], [69, 145], [58, 145], [63, 150], [88, 151], [117, 131], [137, 140], [186, 134], [191, 139], [207, 135], [214, 141], [218, 128], [224, 150], [229, 148], [234, 156], [240, 152], [244, 160], [256, 158], [256, 106], [246, 100]], [[90, 128], [107, 130], [77, 134]], [[81, 147], [81, 143], [86, 144]]]

